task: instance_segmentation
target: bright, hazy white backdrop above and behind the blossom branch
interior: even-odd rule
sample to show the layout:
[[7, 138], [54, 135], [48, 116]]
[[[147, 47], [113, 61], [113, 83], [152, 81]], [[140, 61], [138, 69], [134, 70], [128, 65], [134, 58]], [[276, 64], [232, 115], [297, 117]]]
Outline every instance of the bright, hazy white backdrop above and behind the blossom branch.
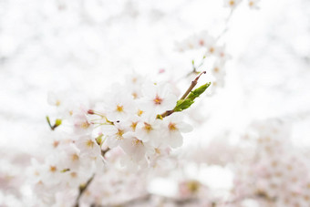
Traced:
[[[0, 0], [1, 149], [36, 150], [48, 91], [98, 98], [132, 70], [183, 77], [202, 53], [179, 53], [175, 43], [202, 30], [219, 35], [229, 13], [220, 0]], [[221, 40], [233, 57], [227, 84], [207, 105], [216, 118], [202, 136], [279, 117], [293, 121], [296, 145], [309, 145], [309, 36], [308, 0], [238, 7]]]

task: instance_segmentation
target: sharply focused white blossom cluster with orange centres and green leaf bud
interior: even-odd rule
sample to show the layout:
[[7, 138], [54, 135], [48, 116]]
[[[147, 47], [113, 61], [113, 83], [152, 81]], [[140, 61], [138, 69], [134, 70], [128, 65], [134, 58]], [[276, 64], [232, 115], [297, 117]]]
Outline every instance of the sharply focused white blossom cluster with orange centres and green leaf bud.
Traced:
[[[112, 92], [98, 101], [79, 104], [74, 96], [50, 93], [48, 103], [56, 107], [57, 119], [47, 117], [52, 130], [44, 139], [45, 159], [32, 160], [29, 169], [40, 204], [74, 202], [72, 197], [77, 197], [78, 189], [86, 188], [95, 174], [97, 179], [108, 174], [104, 173], [107, 163], [111, 163], [108, 171], [113, 166], [127, 171], [159, 166], [171, 150], [181, 147], [182, 134], [191, 131], [181, 110], [189, 108], [209, 85], [195, 90], [191, 85], [178, 100], [171, 84], [133, 74], [124, 86], [112, 85]], [[70, 196], [58, 198], [64, 194]]]

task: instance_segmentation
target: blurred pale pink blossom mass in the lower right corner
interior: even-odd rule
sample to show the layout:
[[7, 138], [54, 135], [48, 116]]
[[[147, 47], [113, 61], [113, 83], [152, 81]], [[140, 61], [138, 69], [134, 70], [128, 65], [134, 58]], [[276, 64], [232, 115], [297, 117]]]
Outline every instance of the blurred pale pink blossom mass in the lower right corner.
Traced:
[[253, 123], [245, 139], [256, 147], [253, 157], [236, 171], [237, 198], [255, 198], [261, 205], [309, 205], [309, 165], [305, 154], [290, 142], [290, 134], [288, 124], [279, 119]]

